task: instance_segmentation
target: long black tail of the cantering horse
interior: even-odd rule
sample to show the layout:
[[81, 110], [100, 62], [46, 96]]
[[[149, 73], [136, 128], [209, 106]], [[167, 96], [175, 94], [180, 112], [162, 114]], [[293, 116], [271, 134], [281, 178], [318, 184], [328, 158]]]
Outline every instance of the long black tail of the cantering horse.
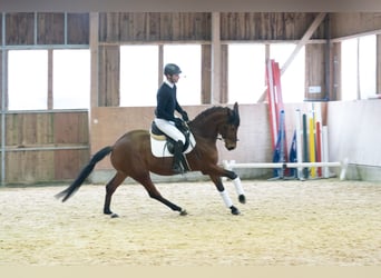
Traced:
[[102, 160], [111, 151], [113, 151], [113, 147], [108, 146], [99, 150], [97, 153], [95, 153], [90, 162], [80, 171], [77, 179], [67, 189], [56, 195], [56, 198], [60, 199], [63, 197], [62, 201], [66, 201], [67, 199], [69, 199], [70, 196], [75, 193], [79, 189], [79, 187], [84, 183], [85, 179], [94, 170], [94, 167], [96, 166], [96, 163]]

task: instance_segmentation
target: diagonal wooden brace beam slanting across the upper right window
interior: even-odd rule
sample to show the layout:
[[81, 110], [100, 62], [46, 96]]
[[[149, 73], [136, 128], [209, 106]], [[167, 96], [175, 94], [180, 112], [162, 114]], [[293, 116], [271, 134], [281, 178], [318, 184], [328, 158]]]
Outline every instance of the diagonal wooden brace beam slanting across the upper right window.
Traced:
[[[289, 59], [285, 61], [285, 63], [283, 64], [283, 67], [281, 68], [281, 76], [286, 71], [286, 69], [289, 68], [289, 66], [291, 64], [291, 62], [295, 59], [296, 54], [299, 53], [299, 51], [306, 44], [309, 43], [310, 38], [312, 37], [312, 34], [316, 31], [318, 27], [322, 23], [322, 21], [325, 18], [326, 12], [321, 12], [316, 16], [316, 18], [314, 19], [314, 21], [312, 22], [312, 24], [310, 26], [310, 28], [305, 31], [305, 33], [303, 34], [302, 39], [297, 42], [294, 51], [291, 53], [291, 56], [289, 57]], [[266, 98], [266, 90], [267, 87], [265, 87], [264, 92], [262, 93], [261, 98], [258, 99], [257, 102], [263, 102]]]

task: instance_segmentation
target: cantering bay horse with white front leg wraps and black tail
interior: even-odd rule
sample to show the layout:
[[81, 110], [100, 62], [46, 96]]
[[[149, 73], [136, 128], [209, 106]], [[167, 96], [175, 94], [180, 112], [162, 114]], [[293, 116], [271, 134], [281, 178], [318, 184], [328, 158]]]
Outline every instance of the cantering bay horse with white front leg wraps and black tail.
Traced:
[[[234, 171], [224, 169], [217, 165], [218, 152], [216, 141], [217, 139], [222, 139], [227, 150], [235, 149], [238, 127], [240, 112], [237, 102], [234, 103], [233, 109], [217, 106], [206, 109], [188, 122], [188, 128], [195, 138], [196, 145], [186, 155], [190, 171], [201, 171], [203, 175], [211, 177], [225, 206], [231, 209], [233, 215], [240, 215], [240, 210], [233, 205], [227, 195], [222, 182], [222, 177], [226, 177], [233, 181], [240, 202], [245, 203], [246, 198], [240, 177]], [[107, 146], [97, 151], [88, 165], [80, 171], [77, 179], [67, 189], [56, 195], [56, 197], [62, 198], [62, 201], [66, 201], [79, 189], [94, 170], [96, 163], [108, 155], [110, 155], [110, 161], [116, 173], [106, 185], [105, 215], [118, 217], [117, 214], [110, 210], [111, 197], [127, 177], [141, 183], [150, 198], [163, 202], [172, 210], [178, 211], [182, 216], [187, 215], [185, 209], [165, 199], [150, 179], [149, 172], [162, 176], [172, 176], [174, 173], [172, 172], [173, 157], [159, 158], [153, 156], [148, 130], [129, 131], [121, 136], [114, 146]]]

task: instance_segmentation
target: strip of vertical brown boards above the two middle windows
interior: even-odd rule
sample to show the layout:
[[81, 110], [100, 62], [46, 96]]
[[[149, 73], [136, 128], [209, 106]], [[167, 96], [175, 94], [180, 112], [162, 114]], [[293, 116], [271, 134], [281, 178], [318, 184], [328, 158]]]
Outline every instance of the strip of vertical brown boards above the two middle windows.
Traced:
[[[222, 12], [221, 40], [299, 40], [318, 13]], [[100, 42], [206, 41], [212, 39], [208, 12], [99, 13]], [[313, 34], [323, 39], [324, 28]]]

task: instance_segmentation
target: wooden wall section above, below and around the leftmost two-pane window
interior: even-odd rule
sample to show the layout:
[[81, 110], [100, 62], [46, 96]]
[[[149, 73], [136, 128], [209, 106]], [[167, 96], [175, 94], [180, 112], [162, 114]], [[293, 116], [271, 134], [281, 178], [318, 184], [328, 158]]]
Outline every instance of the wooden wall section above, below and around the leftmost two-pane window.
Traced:
[[[89, 159], [87, 111], [8, 111], [8, 50], [88, 48], [89, 13], [10, 12], [1, 13], [0, 68], [1, 117], [4, 140], [1, 140], [0, 176], [4, 183], [36, 183], [71, 180]], [[2, 31], [6, 31], [2, 36]], [[1, 63], [2, 64], [2, 63]], [[51, 70], [51, 68], [50, 68]], [[51, 83], [52, 75], [48, 75]], [[4, 90], [3, 90], [4, 85]], [[50, 92], [51, 93], [51, 92]], [[51, 95], [47, 91], [49, 109]], [[2, 100], [6, 103], [2, 103]], [[3, 138], [1, 137], [1, 138]]]

